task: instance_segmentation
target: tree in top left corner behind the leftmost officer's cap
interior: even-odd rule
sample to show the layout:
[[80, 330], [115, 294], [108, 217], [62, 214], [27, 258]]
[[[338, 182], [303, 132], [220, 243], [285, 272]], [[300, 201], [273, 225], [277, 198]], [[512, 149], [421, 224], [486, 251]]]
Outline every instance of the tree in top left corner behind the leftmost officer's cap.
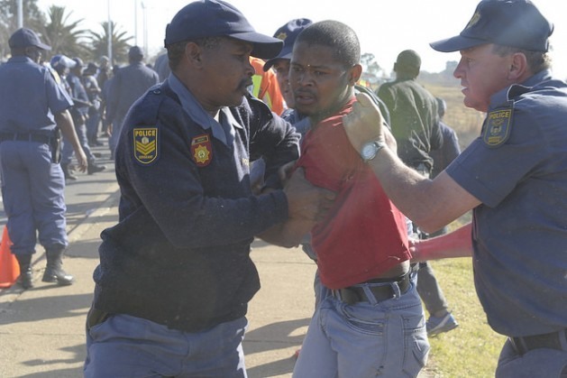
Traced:
[[[23, 0], [23, 26], [45, 35], [45, 15], [41, 13], [37, 0]], [[0, 0], [0, 58], [9, 53], [8, 40], [18, 29], [17, 0]]]

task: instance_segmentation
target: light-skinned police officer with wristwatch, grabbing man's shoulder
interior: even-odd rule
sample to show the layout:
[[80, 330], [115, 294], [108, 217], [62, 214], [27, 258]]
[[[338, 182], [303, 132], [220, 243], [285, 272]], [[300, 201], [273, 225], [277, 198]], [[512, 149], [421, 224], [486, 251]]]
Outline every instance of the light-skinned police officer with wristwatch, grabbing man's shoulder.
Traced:
[[346, 119], [389, 197], [425, 231], [473, 209], [472, 226], [416, 244], [419, 259], [473, 254], [490, 327], [508, 337], [496, 376], [567, 376], [567, 84], [553, 78], [553, 24], [529, 0], [484, 0], [462, 32], [432, 43], [460, 51], [464, 105], [481, 135], [434, 180], [384, 147], [380, 115], [361, 97]]

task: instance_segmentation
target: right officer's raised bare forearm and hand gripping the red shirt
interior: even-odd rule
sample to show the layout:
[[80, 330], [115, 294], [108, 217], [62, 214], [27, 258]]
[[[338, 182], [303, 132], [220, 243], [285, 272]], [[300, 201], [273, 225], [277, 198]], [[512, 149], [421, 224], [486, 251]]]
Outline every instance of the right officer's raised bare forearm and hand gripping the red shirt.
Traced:
[[[359, 102], [350, 115], [343, 117], [343, 124], [352, 146], [360, 152], [366, 142], [383, 142], [384, 135], [378, 108], [366, 95], [357, 98]], [[425, 232], [434, 232], [480, 205], [479, 199], [445, 171], [434, 180], [425, 179], [389, 148], [382, 148], [368, 163], [392, 202]]]

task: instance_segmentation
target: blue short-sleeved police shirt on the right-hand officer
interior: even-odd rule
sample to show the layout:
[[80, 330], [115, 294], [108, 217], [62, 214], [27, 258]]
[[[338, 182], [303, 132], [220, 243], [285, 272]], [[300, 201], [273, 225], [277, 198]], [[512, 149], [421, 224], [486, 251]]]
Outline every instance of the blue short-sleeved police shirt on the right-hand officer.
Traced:
[[446, 170], [482, 201], [475, 285], [490, 326], [512, 337], [567, 327], [567, 85], [549, 75], [494, 95], [481, 137]]

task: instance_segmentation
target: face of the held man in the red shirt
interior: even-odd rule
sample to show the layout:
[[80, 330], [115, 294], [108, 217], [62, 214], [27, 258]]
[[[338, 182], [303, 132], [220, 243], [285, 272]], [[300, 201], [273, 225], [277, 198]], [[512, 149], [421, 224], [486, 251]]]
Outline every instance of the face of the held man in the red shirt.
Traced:
[[316, 120], [333, 115], [351, 98], [351, 70], [334, 58], [332, 48], [296, 42], [289, 85], [297, 111]]

